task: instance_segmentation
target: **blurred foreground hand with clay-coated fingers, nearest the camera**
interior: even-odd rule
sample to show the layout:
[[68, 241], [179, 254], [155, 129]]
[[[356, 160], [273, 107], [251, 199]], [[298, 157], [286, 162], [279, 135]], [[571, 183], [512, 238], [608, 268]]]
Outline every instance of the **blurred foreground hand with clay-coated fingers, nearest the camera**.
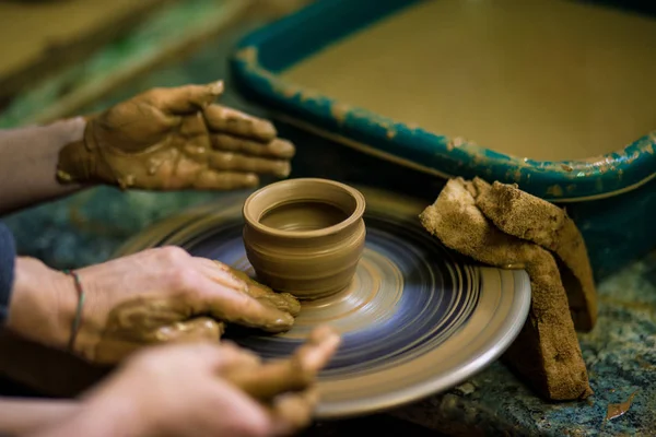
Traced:
[[[338, 335], [319, 329], [282, 366], [261, 364], [227, 344], [143, 350], [82, 397], [80, 414], [40, 437], [94, 436], [94, 429], [124, 436], [293, 435], [311, 422], [315, 375], [338, 345]], [[305, 377], [280, 373], [285, 366]], [[265, 398], [250, 392], [256, 380], [268, 387]]]

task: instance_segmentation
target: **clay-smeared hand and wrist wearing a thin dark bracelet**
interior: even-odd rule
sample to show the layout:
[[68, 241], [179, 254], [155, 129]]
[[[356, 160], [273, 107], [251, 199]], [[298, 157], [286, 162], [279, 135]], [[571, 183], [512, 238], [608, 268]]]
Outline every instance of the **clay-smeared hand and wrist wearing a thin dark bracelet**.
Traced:
[[[78, 307], [71, 276], [19, 259], [8, 327], [66, 347]], [[72, 352], [114, 364], [145, 344], [218, 341], [223, 322], [281, 332], [298, 302], [226, 265], [176, 247], [145, 250], [78, 271], [85, 299]]]

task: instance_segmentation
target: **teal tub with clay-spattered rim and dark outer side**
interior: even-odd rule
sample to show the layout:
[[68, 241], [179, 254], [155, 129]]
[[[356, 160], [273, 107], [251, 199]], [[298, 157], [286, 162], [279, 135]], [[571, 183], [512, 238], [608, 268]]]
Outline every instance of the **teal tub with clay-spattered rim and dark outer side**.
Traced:
[[[626, 139], [628, 146], [618, 144], [617, 152], [604, 156], [539, 162], [472, 143], [455, 144], [454, 139], [344, 105], [281, 78], [286, 69], [328, 45], [421, 1], [426, 0], [318, 0], [242, 39], [231, 59], [230, 83], [268, 109], [283, 133], [297, 143], [297, 163], [303, 165], [295, 168], [303, 176], [341, 176], [325, 174], [328, 167], [318, 164], [307, 167], [305, 162], [317, 155], [332, 163], [360, 165], [351, 173], [364, 179], [376, 172], [400, 173], [395, 166], [405, 168], [402, 177], [395, 173], [387, 179], [411, 190], [414, 184], [415, 191], [430, 191], [434, 197], [438, 191], [426, 184], [431, 175], [434, 180], [480, 176], [517, 184], [566, 206], [582, 231], [597, 279], [656, 248], [656, 227], [645, 218], [656, 214], [656, 131]], [[440, 25], [438, 17], [435, 25]], [[405, 176], [410, 173], [423, 176], [410, 184]], [[350, 181], [350, 176], [343, 180]]]

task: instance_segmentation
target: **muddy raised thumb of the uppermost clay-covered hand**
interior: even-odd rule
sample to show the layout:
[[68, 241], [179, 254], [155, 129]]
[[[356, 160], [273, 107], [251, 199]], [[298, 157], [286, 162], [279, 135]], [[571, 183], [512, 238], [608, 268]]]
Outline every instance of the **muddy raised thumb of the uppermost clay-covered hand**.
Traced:
[[171, 114], [189, 114], [200, 110], [223, 93], [223, 82], [206, 85], [185, 85], [172, 88], [154, 88], [144, 93], [153, 106]]

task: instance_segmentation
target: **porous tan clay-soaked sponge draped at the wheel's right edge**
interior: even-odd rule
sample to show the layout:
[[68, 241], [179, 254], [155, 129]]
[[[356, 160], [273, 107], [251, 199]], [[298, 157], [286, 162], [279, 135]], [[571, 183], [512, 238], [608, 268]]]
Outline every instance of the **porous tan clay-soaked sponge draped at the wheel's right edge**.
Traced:
[[530, 312], [503, 359], [544, 398], [574, 400], [593, 391], [570, 308], [578, 327], [591, 329], [596, 292], [583, 239], [557, 209], [514, 186], [457, 178], [420, 220], [445, 246], [465, 256], [527, 271]]

